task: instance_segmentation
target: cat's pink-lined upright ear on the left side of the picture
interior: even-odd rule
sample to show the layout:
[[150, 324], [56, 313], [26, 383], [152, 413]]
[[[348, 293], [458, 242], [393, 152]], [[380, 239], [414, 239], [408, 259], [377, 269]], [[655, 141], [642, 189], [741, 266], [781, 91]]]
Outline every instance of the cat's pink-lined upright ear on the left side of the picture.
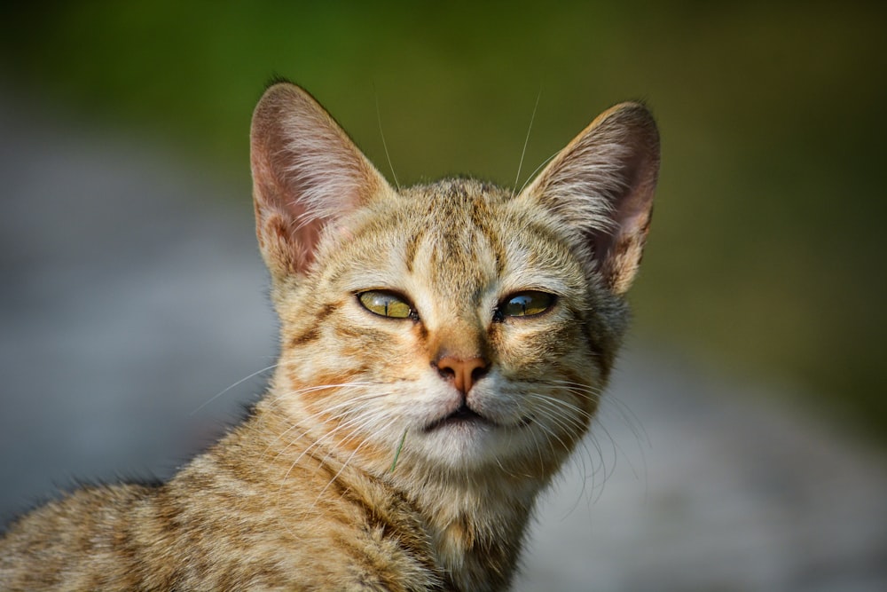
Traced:
[[256, 234], [275, 279], [305, 272], [328, 225], [390, 191], [326, 110], [291, 83], [272, 85], [255, 107], [250, 153]]

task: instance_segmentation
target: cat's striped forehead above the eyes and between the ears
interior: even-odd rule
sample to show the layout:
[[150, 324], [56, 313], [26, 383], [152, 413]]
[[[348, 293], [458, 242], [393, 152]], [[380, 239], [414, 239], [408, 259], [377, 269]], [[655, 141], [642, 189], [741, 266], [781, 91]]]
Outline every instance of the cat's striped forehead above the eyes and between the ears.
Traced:
[[405, 188], [364, 212], [351, 239], [334, 248], [327, 273], [347, 289], [427, 291], [463, 302], [533, 286], [559, 293], [568, 249], [553, 240], [544, 212], [515, 200], [470, 178]]

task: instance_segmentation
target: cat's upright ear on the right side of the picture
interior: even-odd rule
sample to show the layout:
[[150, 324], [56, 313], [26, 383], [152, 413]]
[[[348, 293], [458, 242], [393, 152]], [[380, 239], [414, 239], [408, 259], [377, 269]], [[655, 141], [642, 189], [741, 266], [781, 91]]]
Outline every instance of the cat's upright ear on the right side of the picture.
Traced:
[[522, 193], [567, 225], [616, 294], [640, 264], [659, 174], [659, 132], [647, 107], [623, 103], [600, 114]]

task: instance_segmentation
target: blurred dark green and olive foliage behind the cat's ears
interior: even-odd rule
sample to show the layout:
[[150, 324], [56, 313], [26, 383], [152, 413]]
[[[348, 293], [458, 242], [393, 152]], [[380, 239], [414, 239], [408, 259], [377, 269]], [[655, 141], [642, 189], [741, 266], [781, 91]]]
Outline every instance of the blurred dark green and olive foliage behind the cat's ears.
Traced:
[[248, 194], [273, 75], [399, 182], [518, 185], [623, 99], [663, 133], [636, 330], [887, 434], [887, 20], [875, 3], [83, 2], [5, 8], [0, 75], [181, 142]]

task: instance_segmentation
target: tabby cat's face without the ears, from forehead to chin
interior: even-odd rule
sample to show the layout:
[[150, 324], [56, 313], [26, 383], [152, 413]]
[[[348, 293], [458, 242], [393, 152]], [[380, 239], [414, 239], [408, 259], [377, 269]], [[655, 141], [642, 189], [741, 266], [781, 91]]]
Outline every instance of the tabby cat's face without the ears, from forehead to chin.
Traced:
[[406, 431], [404, 465], [542, 472], [584, 433], [605, 372], [585, 269], [556, 220], [496, 187], [404, 193], [341, 220], [283, 296], [294, 391], [341, 385], [292, 404], [385, 466]]

